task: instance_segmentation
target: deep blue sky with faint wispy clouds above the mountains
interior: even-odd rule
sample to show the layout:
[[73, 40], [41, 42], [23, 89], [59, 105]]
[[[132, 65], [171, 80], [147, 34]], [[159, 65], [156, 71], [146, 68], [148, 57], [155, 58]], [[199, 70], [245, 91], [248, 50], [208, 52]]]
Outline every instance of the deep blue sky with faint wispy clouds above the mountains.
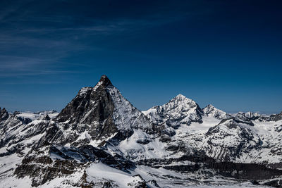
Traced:
[[282, 111], [281, 1], [1, 1], [0, 106], [60, 111], [101, 75], [145, 110], [177, 94]]

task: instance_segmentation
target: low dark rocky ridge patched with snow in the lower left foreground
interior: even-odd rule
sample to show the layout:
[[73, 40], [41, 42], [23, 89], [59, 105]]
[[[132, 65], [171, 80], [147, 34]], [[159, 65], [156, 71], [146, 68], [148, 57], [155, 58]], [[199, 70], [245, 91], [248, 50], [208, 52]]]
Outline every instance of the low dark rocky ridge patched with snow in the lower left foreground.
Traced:
[[25, 156], [22, 163], [16, 168], [15, 175], [20, 178], [27, 175], [32, 177], [32, 186], [37, 187], [61, 175], [82, 173], [83, 169], [87, 167], [86, 164], [91, 162], [101, 162], [125, 172], [128, 172], [127, 169], [135, 168], [135, 164], [128, 159], [122, 156], [111, 156], [90, 145], [78, 148], [48, 146], [44, 150], [39, 149]]

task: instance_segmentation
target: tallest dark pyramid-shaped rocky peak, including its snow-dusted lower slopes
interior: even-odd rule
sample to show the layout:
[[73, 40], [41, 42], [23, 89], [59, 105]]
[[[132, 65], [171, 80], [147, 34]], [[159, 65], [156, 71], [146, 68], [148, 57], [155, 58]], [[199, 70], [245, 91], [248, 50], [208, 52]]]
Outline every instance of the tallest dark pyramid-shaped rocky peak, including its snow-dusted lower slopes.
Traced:
[[90, 142], [101, 144], [114, 136], [121, 139], [129, 137], [133, 129], [145, 132], [152, 129], [147, 117], [124, 99], [105, 75], [94, 87], [80, 89], [54, 120], [56, 126], [42, 143], [71, 143], [71, 146]]

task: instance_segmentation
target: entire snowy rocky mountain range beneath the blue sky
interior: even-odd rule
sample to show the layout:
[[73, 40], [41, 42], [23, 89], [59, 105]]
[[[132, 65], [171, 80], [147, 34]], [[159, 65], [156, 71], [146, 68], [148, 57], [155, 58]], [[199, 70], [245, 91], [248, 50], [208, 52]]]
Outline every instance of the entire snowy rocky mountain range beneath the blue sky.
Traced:
[[59, 113], [1, 107], [0, 187], [282, 187], [282, 113], [139, 111], [106, 75]]

